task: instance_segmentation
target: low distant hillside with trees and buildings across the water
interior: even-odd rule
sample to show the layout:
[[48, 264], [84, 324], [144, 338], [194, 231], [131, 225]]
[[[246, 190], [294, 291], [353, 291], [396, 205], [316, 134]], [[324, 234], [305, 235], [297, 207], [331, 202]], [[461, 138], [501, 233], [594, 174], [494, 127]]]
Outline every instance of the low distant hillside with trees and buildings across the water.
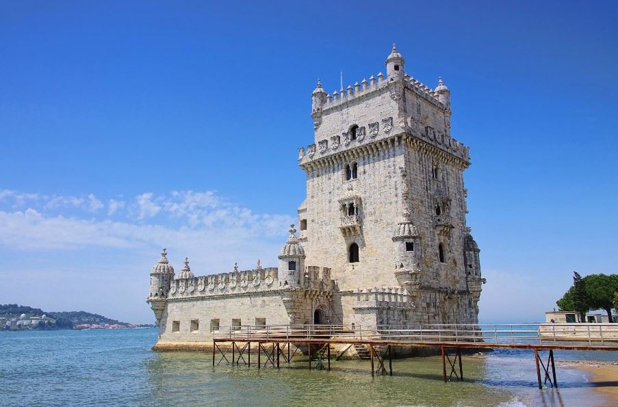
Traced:
[[120, 322], [116, 319], [103, 317], [103, 315], [99, 314], [87, 313], [86, 311], [62, 311], [55, 313], [46, 312], [40, 308], [32, 308], [31, 306], [0, 304], [0, 317], [5, 317], [7, 319], [19, 318], [22, 314], [25, 314], [26, 318], [45, 315], [48, 318], [55, 319], [53, 326], [49, 327], [48, 324], [49, 328], [73, 328], [73, 326], [80, 324], [131, 325], [127, 324], [127, 322]]

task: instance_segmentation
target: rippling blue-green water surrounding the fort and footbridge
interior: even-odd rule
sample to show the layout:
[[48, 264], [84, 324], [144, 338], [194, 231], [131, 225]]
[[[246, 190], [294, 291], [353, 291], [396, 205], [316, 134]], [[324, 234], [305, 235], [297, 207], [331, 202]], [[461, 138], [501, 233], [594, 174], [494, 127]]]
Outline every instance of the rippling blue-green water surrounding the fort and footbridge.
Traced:
[[[561, 388], [539, 391], [532, 352], [464, 356], [465, 382], [443, 383], [437, 357], [366, 360], [329, 371], [212, 367], [210, 353], [152, 352], [156, 330], [0, 332], [0, 406], [609, 406], [587, 373], [558, 367]], [[255, 354], [252, 361], [255, 362]], [[558, 360], [613, 358], [556, 352]], [[448, 366], [447, 366], [448, 367]]]

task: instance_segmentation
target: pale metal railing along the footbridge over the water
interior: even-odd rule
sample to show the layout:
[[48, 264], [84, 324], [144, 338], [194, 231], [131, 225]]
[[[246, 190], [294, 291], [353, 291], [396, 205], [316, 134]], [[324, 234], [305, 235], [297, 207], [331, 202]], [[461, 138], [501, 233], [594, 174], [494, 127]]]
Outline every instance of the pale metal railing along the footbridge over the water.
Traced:
[[242, 325], [221, 326], [214, 339], [285, 341], [349, 339], [402, 343], [618, 343], [618, 324]]

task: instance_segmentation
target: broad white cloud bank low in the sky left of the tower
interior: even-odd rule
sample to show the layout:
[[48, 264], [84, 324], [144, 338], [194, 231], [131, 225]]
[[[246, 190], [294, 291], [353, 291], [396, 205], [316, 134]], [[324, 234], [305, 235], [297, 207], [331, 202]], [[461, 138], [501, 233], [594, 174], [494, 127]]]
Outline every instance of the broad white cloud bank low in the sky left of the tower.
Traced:
[[[75, 197], [53, 196], [41, 206], [49, 210], [60, 202], [73, 205], [71, 198]], [[0, 246], [18, 250], [73, 250], [176, 245], [203, 251], [205, 246], [216, 248], [222, 244], [238, 251], [240, 239], [261, 240], [269, 244], [274, 242], [272, 239], [281, 239], [292, 220], [287, 215], [253, 213], [226, 202], [214, 192], [172, 192], [159, 196], [149, 192], [138, 195], [133, 206], [138, 210], [138, 220], [143, 222], [114, 222], [105, 216], [103, 219], [86, 219], [85, 213], [81, 218], [80, 213], [70, 216], [49, 214], [34, 207], [0, 210], [0, 230], [3, 232]], [[96, 211], [102, 207], [103, 202], [90, 194], [88, 206], [84, 209]], [[111, 215], [122, 209], [130, 213], [132, 209], [126, 207], [124, 201], [110, 199], [107, 213]], [[165, 216], [157, 217], [155, 221], [152, 218], [157, 213]], [[216, 255], [216, 250], [212, 254]]]

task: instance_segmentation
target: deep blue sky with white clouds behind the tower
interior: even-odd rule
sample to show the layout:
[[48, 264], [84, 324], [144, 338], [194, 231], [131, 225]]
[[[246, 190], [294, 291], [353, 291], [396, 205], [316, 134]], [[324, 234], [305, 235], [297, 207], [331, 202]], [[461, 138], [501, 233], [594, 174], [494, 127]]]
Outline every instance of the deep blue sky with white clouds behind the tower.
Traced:
[[[398, 5], [399, 4], [399, 5]], [[0, 1], [0, 304], [153, 323], [149, 272], [276, 266], [318, 78], [451, 90], [480, 321], [617, 273], [612, 1]]]

